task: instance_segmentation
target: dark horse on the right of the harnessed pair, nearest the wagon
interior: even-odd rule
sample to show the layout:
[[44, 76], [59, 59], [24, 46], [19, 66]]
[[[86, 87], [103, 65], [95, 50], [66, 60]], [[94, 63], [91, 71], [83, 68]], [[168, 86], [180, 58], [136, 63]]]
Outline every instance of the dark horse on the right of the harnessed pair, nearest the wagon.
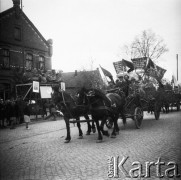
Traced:
[[[122, 115], [122, 118], [124, 119], [123, 121], [126, 121], [124, 115], [125, 97], [121, 97], [117, 93], [105, 94], [98, 89], [82, 88], [79, 98], [83, 99], [84, 101], [87, 99], [90, 114], [92, 115], [92, 118], [96, 122], [97, 126], [97, 142], [102, 141], [102, 134], [107, 136], [109, 135], [108, 131], [103, 130], [103, 126], [108, 118], [111, 118], [114, 123], [111, 137], [116, 137], [116, 133], [119, 132], [119, 127], [117, 124], [119, 114]], [[101, 120], [101, 125], [99, 125], [99, 120]]]

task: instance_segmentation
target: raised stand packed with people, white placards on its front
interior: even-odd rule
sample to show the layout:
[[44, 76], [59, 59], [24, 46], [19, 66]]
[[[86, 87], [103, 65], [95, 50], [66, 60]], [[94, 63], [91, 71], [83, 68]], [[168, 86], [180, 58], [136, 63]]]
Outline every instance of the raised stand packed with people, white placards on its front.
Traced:
[[31, 115], [44, 117], [49, 112], [52, 87], [65, 87], [61, 79], [61, 72], [55, 70], [41, 71], [33, 69], [26, 71], [21, 77], [21, 83], [16, 84], [16, 97], [20, 101], [29, 101]]

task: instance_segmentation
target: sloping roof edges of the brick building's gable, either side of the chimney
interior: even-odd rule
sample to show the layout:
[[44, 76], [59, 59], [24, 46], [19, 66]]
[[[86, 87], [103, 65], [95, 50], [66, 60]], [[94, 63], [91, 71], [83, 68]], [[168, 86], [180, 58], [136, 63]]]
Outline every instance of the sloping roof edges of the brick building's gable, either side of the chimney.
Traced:
[[[35, 25], [30, 21], [30, 19], [26, 16], [26, 14], [19, 8], [20, 16], [27, 21], [27, 23], [32, 27], [32, 29], [38, 34], [38, 36], [42, 39], [42, 41], [49, 47], [49, 43], [46, 41], [46, 39], [42, 36], [42, 34], [38, 31], [38, 29], [35, 27]], [[11, 13], [16, 13], [16, 8], [12, 7], [9, 8], [3, 12], [0, 13], [0, 21], [1, 19], [5, 18]]]

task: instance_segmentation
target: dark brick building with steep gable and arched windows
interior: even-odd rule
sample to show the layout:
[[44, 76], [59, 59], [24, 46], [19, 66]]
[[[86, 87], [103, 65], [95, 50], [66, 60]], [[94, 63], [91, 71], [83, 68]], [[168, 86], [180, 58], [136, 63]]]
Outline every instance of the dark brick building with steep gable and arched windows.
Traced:
[[20, 8], [20, 0], [0, 13], [0, 98], [13, 96], [24, 72], [52, 69], [52, 40], [45, 40]]

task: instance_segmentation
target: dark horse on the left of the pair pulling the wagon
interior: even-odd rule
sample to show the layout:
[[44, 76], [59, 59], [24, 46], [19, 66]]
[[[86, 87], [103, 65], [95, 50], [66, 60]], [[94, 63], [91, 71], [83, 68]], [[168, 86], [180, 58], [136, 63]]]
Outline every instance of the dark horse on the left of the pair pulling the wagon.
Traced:
[[[66, 128], [67, 128], [67, 136], [65, 138], [65, 143], [68, 143], [71, 140], [70, 122], [69, 122], [69, 120], [71, 118], [76, 119], [78, 121], [78, 120], [80, 120], [80, 116], [84, 116], [88, 123], [87, 135], [90, 134], [91, 125], [89, 123], [88, 107], [86, 107], [85, 105], [80, 105], [80, 104], [77, 105], [77, 103], [71, 97], [70, 94], [68, 94], [65, 91], [59, 92], [58, 86], [53, 87], [52, 100], [64, 115], [64, 120], [65, 120]], [[93, 126], [94, 126], [94, 124], [93, 124]], [[95, 127], [93, 127], [93, 126], [92, 126], [92, 131], [95, 132]], [[83, 133], [81, 130], [80, 122], [77, 122], [77, 127], [79, 129], [79, 138], [82, 139]]]

